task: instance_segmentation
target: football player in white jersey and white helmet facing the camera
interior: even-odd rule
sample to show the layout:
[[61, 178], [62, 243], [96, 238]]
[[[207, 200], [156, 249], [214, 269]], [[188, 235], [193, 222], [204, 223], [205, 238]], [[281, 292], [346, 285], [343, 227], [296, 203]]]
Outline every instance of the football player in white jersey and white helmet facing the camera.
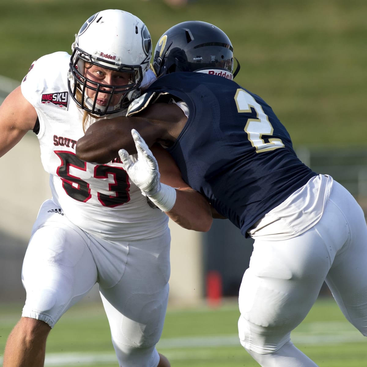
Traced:
[[144, 23], [121, 10], [98, 12], [81, 27], [72, 50], [36, 60], [0, 106], [0, 156], [33, 130], [52, 192], [25, 254], [26, 301], [4, 366], [43, 366], [50, 330], [98, 282], [119, 365], [168, 367], [156, 350], [168, 301], [168, 217], [206, 231], [209, 204], [158, 147], [161, 183], [154, 191], [144, 179], [140, 188], [132, 183], [118, 156], [99, 165], [75, 155], [88, 126], [124, 115], [148, 84], [152, 51]]

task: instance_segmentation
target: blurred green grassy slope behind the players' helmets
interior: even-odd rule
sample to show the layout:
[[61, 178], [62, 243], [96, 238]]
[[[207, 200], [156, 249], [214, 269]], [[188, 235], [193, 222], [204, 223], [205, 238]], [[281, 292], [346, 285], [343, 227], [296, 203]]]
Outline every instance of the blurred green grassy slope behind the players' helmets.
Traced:
[[365, 146], [366, 0], [3, 1], [0, 74], [20, 81], [41, 55], [70, 52], [84, 21], [107, 8], [141, 18], [153, 50], [178, 22], [213, 23], [240, 61], [236, 81], [272, 106], [295, 147]]

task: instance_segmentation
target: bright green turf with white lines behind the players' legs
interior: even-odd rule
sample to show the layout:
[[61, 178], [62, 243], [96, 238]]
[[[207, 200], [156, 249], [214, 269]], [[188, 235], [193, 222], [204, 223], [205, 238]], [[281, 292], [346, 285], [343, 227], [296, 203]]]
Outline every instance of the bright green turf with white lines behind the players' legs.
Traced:
[[[6, 337], [18, 320], [19, 306], [1, 308], [1, 357]], [[218, 308], [168, 308], [158, 349], [172, 367], [255, 367], [237, 338], [235, 301]], [[366, 366], [366, 340], [330, 298], [321, 298], [292, 333], [295, 345], [320, 367]], [[52, 330], [45, 366], [117, 366], [101, 304], [70, 309]]]

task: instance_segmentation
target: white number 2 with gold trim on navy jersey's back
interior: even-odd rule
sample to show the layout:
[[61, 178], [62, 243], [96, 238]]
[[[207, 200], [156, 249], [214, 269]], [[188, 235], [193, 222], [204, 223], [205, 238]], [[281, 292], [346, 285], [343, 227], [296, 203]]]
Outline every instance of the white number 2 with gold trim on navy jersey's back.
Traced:
[[247, 124], [244, 127], [244, 131], [247, 133], [248, 140], [252, 146], [256, 149], [256, 153], [268, 152], [277, 148], [284, 148], [284, 144], [281, 139], [267, 138], [268, 142], [262, 139], [262, 135], [272, 135], [273, 127], [269, 121], [268, 115], [265, 114], [261, 105], [255, 101], [255, 98], [251, 94], [243, 89], [237, 89], [235, 95], [235, 101], [237, 105], [237, 111], [239, 113], [251, 112], [251, 107], [257, 113], [257, 119], [248, 119]]

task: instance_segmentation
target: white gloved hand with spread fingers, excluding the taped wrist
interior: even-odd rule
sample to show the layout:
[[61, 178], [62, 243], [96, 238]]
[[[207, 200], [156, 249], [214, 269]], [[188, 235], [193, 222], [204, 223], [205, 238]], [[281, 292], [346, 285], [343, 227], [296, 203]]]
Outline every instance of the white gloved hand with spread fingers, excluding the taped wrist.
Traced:
[[124, 170], [129, 175], [131, 181], [138, 186], [143, 195], [155, 195], [161, 189], [157, 160], [144, 139], [135, 129], [131, 130], [131, 135], [137, 148], [138, 160], [133, 163], [129, 153], [125, 149], [120, 149], [119, 156]]

